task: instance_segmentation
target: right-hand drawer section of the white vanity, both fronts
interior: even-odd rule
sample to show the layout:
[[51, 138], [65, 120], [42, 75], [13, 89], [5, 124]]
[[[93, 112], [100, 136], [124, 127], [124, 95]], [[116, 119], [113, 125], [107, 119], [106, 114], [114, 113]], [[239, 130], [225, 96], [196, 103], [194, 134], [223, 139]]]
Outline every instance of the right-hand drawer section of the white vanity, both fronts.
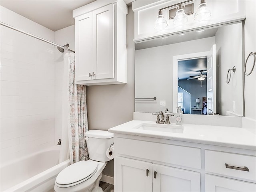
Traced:
[[205, 172], [206, 192], [256, 191], [256, 156], [205, 150]]

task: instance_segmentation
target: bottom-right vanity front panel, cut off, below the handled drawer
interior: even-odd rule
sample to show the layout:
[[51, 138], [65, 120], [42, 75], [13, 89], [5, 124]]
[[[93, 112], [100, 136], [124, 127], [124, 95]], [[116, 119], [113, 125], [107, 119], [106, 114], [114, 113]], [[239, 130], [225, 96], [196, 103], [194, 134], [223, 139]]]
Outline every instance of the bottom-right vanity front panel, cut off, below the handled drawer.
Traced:
[[230, 178], [205, 175], [206, 192], [255, 192], [256, 184]]

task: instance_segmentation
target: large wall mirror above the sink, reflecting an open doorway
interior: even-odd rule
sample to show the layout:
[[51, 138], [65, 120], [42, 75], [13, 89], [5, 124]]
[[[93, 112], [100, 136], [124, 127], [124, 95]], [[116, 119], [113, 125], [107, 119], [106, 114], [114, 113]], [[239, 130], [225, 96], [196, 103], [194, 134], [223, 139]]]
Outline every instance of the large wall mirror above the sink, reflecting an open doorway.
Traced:
[[234, 22], [136, 42], [135, 111], [181, 106], [185, 114], [243, 116], [243, 28]]

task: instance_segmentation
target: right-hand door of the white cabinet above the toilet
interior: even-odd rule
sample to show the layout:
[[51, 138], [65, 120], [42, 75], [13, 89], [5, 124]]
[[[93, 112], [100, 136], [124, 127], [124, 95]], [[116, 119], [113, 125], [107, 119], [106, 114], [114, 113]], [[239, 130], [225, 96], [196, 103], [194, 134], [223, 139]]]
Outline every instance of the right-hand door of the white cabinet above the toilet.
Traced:
[[114, 78], [114, 4], [93, 11], [93, 31], [95, 79]]

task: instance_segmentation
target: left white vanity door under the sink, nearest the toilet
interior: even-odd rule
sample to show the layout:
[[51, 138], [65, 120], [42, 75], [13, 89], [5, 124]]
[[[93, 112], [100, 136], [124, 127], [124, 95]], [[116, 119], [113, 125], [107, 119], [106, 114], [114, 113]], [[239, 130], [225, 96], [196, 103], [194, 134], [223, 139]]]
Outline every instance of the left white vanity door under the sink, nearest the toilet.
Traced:
[[123, 157], [114, 163], [115, 192], [152, 192], [152, 163]]

